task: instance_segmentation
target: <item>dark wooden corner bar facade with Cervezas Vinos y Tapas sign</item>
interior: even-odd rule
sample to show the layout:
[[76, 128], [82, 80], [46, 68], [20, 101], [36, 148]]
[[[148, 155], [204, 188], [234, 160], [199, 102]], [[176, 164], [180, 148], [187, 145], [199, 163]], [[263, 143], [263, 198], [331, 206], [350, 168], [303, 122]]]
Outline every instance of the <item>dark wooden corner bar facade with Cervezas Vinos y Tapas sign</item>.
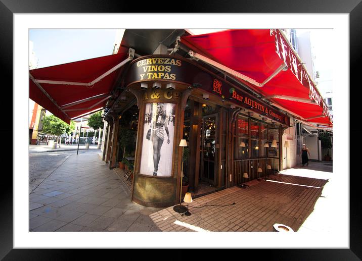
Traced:
[[189, 191], [202, 195], [283, 169], [282, 135], [290, 118], [241, 84], [179, 55], [141, 56], [120, 79], [104, 117], [103, 160], [118, 166], [119, 124], [133, 110], [133, 202], [179, 203], [182, 176]]

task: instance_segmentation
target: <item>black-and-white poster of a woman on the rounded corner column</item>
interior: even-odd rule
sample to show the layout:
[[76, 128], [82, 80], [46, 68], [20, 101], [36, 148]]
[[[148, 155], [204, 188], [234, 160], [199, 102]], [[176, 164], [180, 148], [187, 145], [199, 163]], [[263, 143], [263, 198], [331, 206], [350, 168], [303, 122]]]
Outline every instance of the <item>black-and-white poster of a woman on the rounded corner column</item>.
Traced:
[[175, 104], [147, 103], [141, 155], [141, 174], [172, 175]]

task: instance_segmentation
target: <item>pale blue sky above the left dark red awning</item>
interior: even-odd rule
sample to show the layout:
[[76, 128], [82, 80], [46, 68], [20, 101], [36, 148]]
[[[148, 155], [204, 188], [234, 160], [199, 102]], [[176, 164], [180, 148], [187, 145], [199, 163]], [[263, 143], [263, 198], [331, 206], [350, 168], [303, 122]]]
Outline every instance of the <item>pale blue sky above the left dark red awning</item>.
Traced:
[[111, 55], [115, 29], [30, 29], [37, 67]]

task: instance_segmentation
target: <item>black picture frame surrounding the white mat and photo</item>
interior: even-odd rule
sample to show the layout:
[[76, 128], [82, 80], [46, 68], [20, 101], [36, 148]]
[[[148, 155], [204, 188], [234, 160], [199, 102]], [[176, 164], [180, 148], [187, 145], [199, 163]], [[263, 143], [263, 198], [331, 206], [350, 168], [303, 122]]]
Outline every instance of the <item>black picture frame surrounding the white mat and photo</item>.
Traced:
[[[208, 1], [204, 2], [186, 1], [176, 5], [168, 10], [169, 12], [177, 13], [348, 13], [350, 22], [350, 86], [353, 87], [353, 95], [350, 95], [350, 119], [358, 119], [357, 113], [360, 111], [357, 98], [360, 97], [360, 80], [359, 80], [359, 65], [362, 62], [361, 54], [361, 42], [362, 42], [362, 3], [361, 0], [349, 0], [349, 1], [337, 1], [337, 0], [320, 0], [320, 1], [270, 1], [264, 2], [260, 0], [254, 1]], [[9, 79], [7, 86], [13, 86], [12, 75], [13, 70], [13, 15], [15, 13], [153, 13], [161, 11], [160, 6], [170, 6], [170, 2], [158, 1], [157, 5], [138, 5], [137, 8], [129, 3], [120, 3], [119, 1], [46, 1], [46, 0], [28, 0], [28, 1], [12, 1], [1, 0], [0, 1], [0, 35], [1, 35], [1, 74], [2, 79]], [[353, 85], [355, 84], [355, 85]], [[351, 88], [352, 89], [352, 88]], [[2, 89], [2, 96], [13, 96], [12, 88], [7, 87]], [[346, 105], [347, 106], [347, 105]], [[12, 108], [12, 107], [8, 107]], [[8, 115], [4, 118], [10, 118]], [[7, 119], [8, 121], [8, 119]], [[352, 122], [352, 121], [351, 121]], [[11, 123], [7, 124], [12, 126]], [[360, 135], [359, 123], [356, 121], [354, 124], [348, 126], [349, 134], [351, 137]], [[2, 130], [3, 135], [12, 137], [14, 139], [12, 128]], [[349, 142], [346, 139], [346, 142]], [[358, 140], [355, 140], [358, 142]], [[11, 142], [7, 142], [6, 154], [7, 157], [12, 155], [12, 149], [15, 149], [10, 145]], [[352, 148], [353, 146], [351, 146]], [[357, 146], [354, 146], [355, 148]], [[11, 151], [10, 151], [11, 150]], [[348, 172], [351, 173], [350, 177], [350, 248], [349, 249], [253, 249], [243, 250], [243, 256], [247, 256], [248, 252], [258, 252], [260, 255], [267, 256], [271, 260], [360, 260], [362, 258], [362, 226], [360, 226], [360, 171], [353, 172], [353, 168], [350, 168], [350, 163], [359, 162], [357, 158], [360, 152], [352, 150], [345, 151], [350, 153], [350, 162], [339, 163], [346, 165], [345, 173], [338, 173], [341, 178], [348, 177]], [[5, 159], [5, 158], [3, 158]], [[13, 163], [16, 162], [16, 158], [13, 159]], [[6, 162], [6, 160], [4, 160]], [[4, 260], [19, 260], [19, 259], [36, 259], [36, 260], [62, 260], [71, 259], [74, 256], [72, 251], [62, 249], [13, 249], [13, 178], [8, 172], [3, 173], [3, 188], [0, 202], [2, 206], [0, 231], [1, 232], [1, 244], [0, 244], [0, 258]], [[7, 175], [5, 175], [7, 174]], [[354, 175], [352, 175], [354, 174]], [[338, 211], [338, 210], [336, 210]], [[184, 256], [182, 249], [178, 249], [173, 252], [173, 255]], [[240, 250], [238, 251], [240, 253]], [[88, 251], [94, 255], [93, 251]], [[191, 254], [191, 252], [189, 252]], [[137, 253], [140, 256], [140, 252]], [[213, 255], [213, 251], [204, 253], [204, 258]], [[152, 256], [152, 254], [151, 254]], [[150, 253], [148, 253], [150, 258]], [[169, 258], [169, 257], [168, 257]], [[158, 258], [159, 259], [159, 258]]]

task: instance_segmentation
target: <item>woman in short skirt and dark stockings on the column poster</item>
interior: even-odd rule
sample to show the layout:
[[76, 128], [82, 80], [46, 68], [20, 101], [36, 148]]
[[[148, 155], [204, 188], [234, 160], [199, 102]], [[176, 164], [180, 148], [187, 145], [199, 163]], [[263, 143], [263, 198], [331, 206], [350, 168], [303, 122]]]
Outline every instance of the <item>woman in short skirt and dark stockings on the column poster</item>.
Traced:
[[[162, 103], [157, 103], [156, 117], [153, 118], [151, 116], [151, 119], [152, 119], [151, 129], [153, 129], [153, 134], [151, 135], [151, 129], [150, 129], [149, 133], [147, 133], [147, 138], [151, 140], [153, 143], [153, 165], [154, 165], [153, 176], [157, 176], [158, 164], [161, 159], [161, 147], [165, 139], [163, 129], [165, 129], [167, 134], [167, 144], [170, 143], [170, 135], [167, 128], [166, 111]], [[152, 124], [154, 124], [154, 128], [152, 128]]]

